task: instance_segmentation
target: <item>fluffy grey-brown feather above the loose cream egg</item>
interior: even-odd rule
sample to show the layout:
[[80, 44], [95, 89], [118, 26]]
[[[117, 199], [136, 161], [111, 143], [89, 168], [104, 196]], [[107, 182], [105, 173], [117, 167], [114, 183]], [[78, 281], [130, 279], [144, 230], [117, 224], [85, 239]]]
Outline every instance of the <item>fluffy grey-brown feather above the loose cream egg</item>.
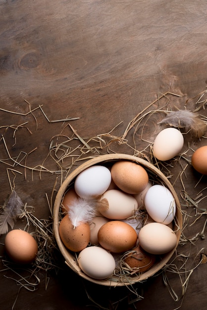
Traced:
[[203, 121], [198, 114], [189, 110], [178, 110], [168, 112], [166, 117], [163, 118], [158, 124], [166, 124], [177, 128], [184, 128], [186, 132], [201, 138], [207, 130], [207, 124]]

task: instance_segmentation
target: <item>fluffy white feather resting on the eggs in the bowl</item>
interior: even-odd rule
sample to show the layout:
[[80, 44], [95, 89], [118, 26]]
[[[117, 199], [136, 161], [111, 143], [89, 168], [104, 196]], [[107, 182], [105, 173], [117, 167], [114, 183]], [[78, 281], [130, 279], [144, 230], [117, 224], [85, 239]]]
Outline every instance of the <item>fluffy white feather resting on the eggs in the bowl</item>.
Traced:
[[96, 206], [97, 202], [95, 200], [86, 200], [83, 198], [73, 200], [69, 207], [68, 215], [74, 228], [81, 223], [90, 223], [96, 215]]

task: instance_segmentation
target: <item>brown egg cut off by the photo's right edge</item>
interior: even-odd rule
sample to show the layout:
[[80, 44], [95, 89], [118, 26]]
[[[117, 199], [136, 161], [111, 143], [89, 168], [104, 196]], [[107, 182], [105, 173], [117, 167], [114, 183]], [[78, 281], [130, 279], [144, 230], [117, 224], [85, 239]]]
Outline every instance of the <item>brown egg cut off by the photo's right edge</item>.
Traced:
[[196, 171], [207, 175], [207, 146], [203, 146], [194, 152], [191, 163]]

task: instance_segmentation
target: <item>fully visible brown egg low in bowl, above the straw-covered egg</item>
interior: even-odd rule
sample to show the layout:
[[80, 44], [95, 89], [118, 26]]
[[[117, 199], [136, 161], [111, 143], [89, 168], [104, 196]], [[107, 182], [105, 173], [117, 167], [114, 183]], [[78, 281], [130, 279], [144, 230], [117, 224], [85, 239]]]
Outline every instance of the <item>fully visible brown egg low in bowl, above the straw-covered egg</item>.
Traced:
[[121, 253], [130, 250], [137, 242], [133, 227], [122, 221], [109, 221], [98, 232], [100, 245], [109, 252]]

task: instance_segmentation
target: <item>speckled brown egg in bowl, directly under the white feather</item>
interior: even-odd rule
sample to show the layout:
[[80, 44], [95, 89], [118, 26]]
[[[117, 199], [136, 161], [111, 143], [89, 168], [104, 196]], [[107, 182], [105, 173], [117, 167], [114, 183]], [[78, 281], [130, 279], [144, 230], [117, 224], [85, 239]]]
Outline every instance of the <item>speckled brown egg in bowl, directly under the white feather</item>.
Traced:
[[89, 244], [90, 225], [88, 223], [81, 223], [74, 228], [69, 216], [65, 215], [59, 224], [59, 235], [67, 249], [79, 252]]

